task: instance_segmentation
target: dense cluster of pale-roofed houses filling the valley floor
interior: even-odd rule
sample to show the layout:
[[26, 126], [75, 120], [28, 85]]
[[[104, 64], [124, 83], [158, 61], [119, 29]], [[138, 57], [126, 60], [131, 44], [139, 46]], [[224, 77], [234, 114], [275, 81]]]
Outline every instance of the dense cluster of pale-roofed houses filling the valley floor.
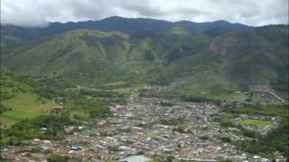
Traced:
[[[17, 147], [11, 147], [6, 148], [1, 156], [34, 160], [59, 154], [95, 161], [129, 161], [135, 158], [145, 161], [167, 157], [191, 161], [216, 161], [218, 157], [233, 161], [268, 161], [220, 139], [243, 137], [221, 130], [219, 122], [212, 120], [219, 112], [219, 107], [214, 104], [137, 98], [127, 105], [111, 107], [111, 112], [109, 118], [97, 119], [89, 126], [65, 127], [65, 140], [31, 140], [29, 147], [42, 150], [36, 155], [27, 156], [23, 152], [28, 150], [16, 151]], [[45, 150], [50, 151], [45, 154]]]

